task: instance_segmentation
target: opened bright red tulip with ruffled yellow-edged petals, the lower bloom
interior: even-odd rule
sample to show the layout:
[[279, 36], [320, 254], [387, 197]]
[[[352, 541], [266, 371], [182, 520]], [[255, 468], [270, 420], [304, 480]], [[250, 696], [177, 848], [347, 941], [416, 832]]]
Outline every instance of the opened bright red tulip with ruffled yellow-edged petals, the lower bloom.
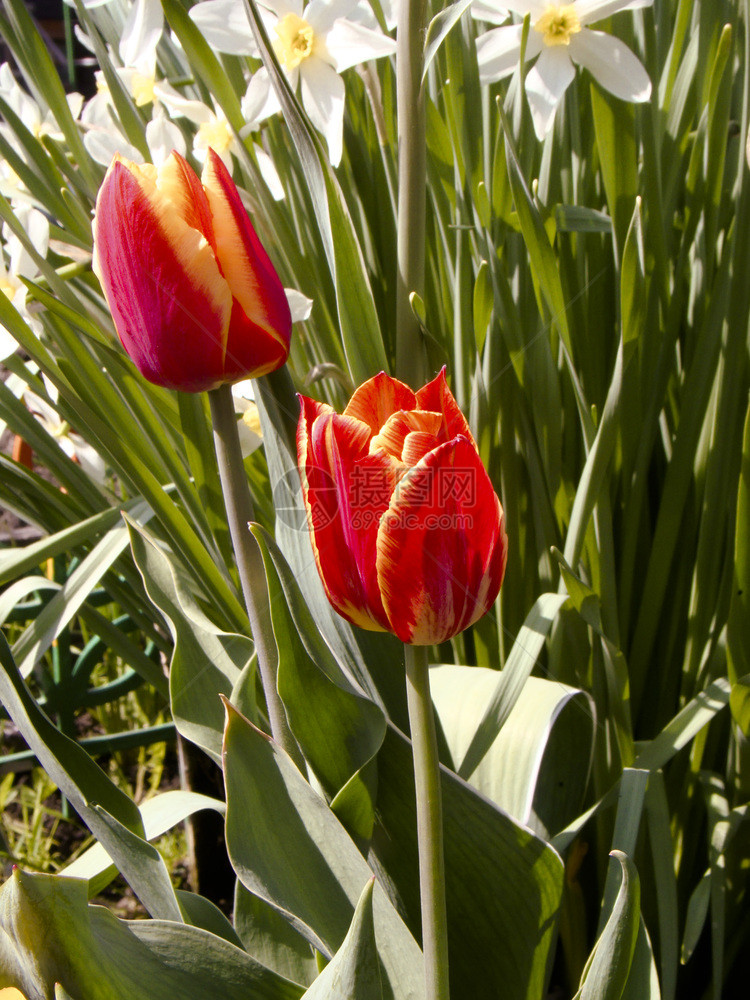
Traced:
[[417, 393], [381, 372], [341, 415], [301, 401], [302, 490], [334, 608], [417, 645], [481, 618], [505, 572], [505, 515], [444, 370]]

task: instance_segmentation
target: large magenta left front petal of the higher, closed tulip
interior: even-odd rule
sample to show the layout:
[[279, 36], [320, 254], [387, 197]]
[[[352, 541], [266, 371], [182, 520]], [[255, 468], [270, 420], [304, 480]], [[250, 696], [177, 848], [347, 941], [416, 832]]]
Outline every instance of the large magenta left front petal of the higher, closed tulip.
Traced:
[[150, 381], [222, 381], [229, 286], [210, 244], [160, 196], [154, 167], [116, 160], [99, 192], [94, 266], [125, 350]]

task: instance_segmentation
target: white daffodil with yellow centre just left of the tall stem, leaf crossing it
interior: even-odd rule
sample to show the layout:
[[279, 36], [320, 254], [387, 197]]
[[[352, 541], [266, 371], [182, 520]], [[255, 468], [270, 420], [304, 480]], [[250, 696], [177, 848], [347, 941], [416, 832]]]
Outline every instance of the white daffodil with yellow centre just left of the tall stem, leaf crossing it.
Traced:
[[[379, 29], [349, 19], [357, 0], [262, 0], [263, 16], [289, 84], [300, 84], [302, 104], [315, 128], [325, 136], [328, 156], [341, 161], [344, 132], [344, 81], [340, 74], [358, 63], [396, 51], [396, 43]], [[239, 9], [238, 9], [239, 8]], [[252, 30], [237, 0], [204, 0], [190, 16], [208, 43], [221, 52], [256, 55]], [[242, 101], [248, 122], [257, 124], [280, 111], [265, 68], [250, 81]]]

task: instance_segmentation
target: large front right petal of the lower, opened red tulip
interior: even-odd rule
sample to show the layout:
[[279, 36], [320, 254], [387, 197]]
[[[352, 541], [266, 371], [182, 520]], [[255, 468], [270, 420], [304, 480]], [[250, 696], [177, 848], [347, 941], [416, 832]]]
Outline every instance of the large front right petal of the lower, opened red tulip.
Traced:
[[391, 630], [443, 642], [477, 621], [502, 583], [507, 537], [476, 448], [449, 441], [404, 477], [380, 522], [377, 574]]

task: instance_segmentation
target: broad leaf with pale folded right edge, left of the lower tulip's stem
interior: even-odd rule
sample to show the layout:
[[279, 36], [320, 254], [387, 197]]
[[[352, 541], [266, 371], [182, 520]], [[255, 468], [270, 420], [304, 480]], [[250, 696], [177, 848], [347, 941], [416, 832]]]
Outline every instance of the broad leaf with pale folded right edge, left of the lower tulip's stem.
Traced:
[[[237, 876], [332, 957], [372, 876], [367, 863], [286, 754], [228, 704], [224, 775], [227, 848]], [[384, 997], [423, 996], [417, 943], [379, 886], [373, 905]]]

